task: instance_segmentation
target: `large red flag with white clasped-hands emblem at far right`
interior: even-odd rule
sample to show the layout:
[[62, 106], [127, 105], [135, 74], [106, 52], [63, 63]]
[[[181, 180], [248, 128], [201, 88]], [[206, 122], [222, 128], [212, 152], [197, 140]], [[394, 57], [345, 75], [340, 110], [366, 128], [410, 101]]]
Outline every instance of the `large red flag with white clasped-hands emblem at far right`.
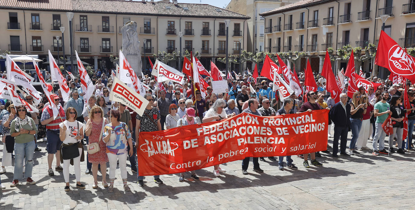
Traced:
[[408, 55], [385, 31], [381, 31], [375, 64], [415, 82], [415, 58]]

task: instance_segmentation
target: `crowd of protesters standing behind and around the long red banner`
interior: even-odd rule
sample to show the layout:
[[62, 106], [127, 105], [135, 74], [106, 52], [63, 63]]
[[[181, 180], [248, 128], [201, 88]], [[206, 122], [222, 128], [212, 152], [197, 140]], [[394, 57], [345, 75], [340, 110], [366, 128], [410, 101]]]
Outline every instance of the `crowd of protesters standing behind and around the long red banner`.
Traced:
[[[405, 151], [415, 151], [412, 143], [412, 133], [415, 127], [415, 91], [413, 84], [393, 84], [391, 80], [381, 80], [377, 77], [371, 78], [371, 82], [380, 83], [375, 90], [370, 87], [366, 92], [364, 87], [359, 87], [353, 97], [347, 97], [347, 80], [345, 88], [340, 94], [340, 102], [335, 103], [330, 92], [325, 91], [325, 79], [320, 74], [315, 74], [317, 91], [305, 92], [298, 97], [292, 94], [281, 101], [278, 94], [272, 91], [273, 82], [254, 78], [247, 74], [239, 73], [232, 75], [233, 80], [228, 79], [229, 92], [214, 93], [211, 86], [207, 87], [206, 93], [199, 89], [192, 89], [193, 84], [186, 79], [184, 84], [163, 83], [157, 84], [156, 80], [149, 75], [139, 80], [147, 84], [150, 89], [146, 91], [144, 98], [149, 101], [142, 116], [137, 115], [132, 109], [117, 102], [110, 101], [112, 87], [111, 71], [97, 70], [92, 77], [94, 83], [94, 94], [87, 100], [84, 109], [83, 90], [79, 84], [79, 78], [67, 77], [71, 89], [71, 97], [65, 102], [60, 90], [52, 94], [58, 107], [59, 116], [53, 117], [53, 111], [46, 98], [37, 106], [39, 112], [28, 112], [24, 106], [15, 107], [10, 101], [0, 100], [3, 103], [0, 113], [0, 132], [3, 142], [3, 158], [0, 174], [6, 172], [6, 167], [12, 166], [12, 157], [15, 157], [13, 181], [10, 187], [14, 187], [19, 180], [26, 177], [26, 182], [35, 184], [32, 180], [33, 154], [41, 151], [37, 142], [46, 141], [48, 153], [47, 174], [54, 176], [54, 171], [61, 171], [64, 177], [64, 190], [70, 191], [69, 168], [73, 165], [76, 176], [76, 188], [85, 188], [81, 183], [81, 162], [86, 162], [85, 174], [93, 175], [93, 188], [98, 188], [98, 171], [101, 172], [102, 186], [112, 192], [117, 165], [125, 191], [130, 191], [127, 183], [127, 160], [130, 169], [137, 174], [139, 186], [144, 186], [144, 176], [138, 175], [136, 150], [139, 132], [151, 132], [165, 130], [192, 124], [220, 121], [238, 115], [242, 112], [259, 116], [279, 116], [295, 114], [305, 111], [328, 109], [329, 126], [328, 138], [333, 140], [333, 148], [327, 145], [329, 150], [321, 151], [338, 157], [339, 144], [340, 155], [351, 156], [359, 154], [361, 150], [369, 150], [374, 155], [389, 154], [396, 152], [405, 154]], [[300, 84], [303, 85], [304, 73], [299, 74]], [[46, 80], [50, 80], [50, 74], [46, 71]], [[205, 77], [208, 84], [210, 78]], [[408, 89], [410, 109], [404, 109], [402, 105], [404, 96], [404, 85]], [[24, 99], [33, 104], [33, 97], [25, 95]], [[408, 137], [402, 138], [403, 120], [405, 113], [408, 114]], [[382, 129], [382, 123], [387, 116], [391, 115], [393, 121], [393, 134], [388, 137], [388, 149], [384, 142], [386, 133]], [[333, 127], [334, 133], [330, 130]], [[352, 131], [352, 138], [347, 145], [348, 132]], [[372, 146], [368, 147], [368, 141]], [[395, 143], [396, 142], [396, 143]], [[84, 145], [97, 147], [98, 151], [85, 151]], [[99, 148], [99, 149], [98, 149]], [[348, 149], [347, 149], [348, 148]], [[85, 158], [86, 156], [86, 158]], [[317, 157], [322, 157], [320, 152], [298, 155], [305, 168], [310, 163], [314, 166], [322, 166]], [[56, 157], [55, 169], [53, 162]], [[284, 157], [254, 157], [253, 170], [264, 172], [260, 168], [259, 160], [266, 162], [278, 161], [278, 168], [284, 170]], [[248, 164], [251, 158], [242, 161], [242, 174], [248, 174]], [[293, 163], [291, 156], [286, 156], [286, 167], [298, 169]], [[107, 181], [107, 163], [109, 163], [109, 179]], [[61, 165], [63, 164], [63, 165]], [[199, 180], [196, 171], [189, 171], [190, 178]], [[214, 176], [225, 173], [220, 165], [213, 167]], [[45, 173], [46, 174], [46, 173]], [[184, 173], [179, 174], [178, 181], [184, 181]], [[0, 179], [1, 181], [1, 179]], [[154, 182], [162, 184], [159, 176], [154, 176]], [[1, 184], [1, 188], [5, 188]]]

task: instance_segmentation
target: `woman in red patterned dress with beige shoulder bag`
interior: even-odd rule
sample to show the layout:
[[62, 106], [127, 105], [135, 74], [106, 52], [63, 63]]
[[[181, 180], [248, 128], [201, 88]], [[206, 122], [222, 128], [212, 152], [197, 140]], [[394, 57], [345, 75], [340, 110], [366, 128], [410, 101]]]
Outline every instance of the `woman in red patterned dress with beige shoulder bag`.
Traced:
[[108, 156], [106, 153], [107, 145], [102, 141], [104, 126], [108, 124], [107, 118], [104, 118], [103, 109], [99, 106], [93, 106], [89, 112], [89, 119], [86, 122], [85, 135], [89, 136], [88, 161], [92, 163], [92, 174], [94, 176], [93, 189], [98, 188], [98, 164], [101, 165], [102, 182], [104, 187], [108, 187], [105, 180], [107, 176]]

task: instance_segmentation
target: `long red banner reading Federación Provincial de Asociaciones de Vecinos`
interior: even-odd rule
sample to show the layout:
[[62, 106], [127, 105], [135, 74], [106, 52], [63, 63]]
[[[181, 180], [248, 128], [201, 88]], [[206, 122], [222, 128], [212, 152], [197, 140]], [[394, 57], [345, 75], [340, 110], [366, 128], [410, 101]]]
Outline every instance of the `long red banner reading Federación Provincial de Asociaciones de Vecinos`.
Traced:
[[327, 150], [327, 112], [272, 117], [241, 113], [200, 126], [140, 132], [139, 176], [203, 169], [245, 157]]

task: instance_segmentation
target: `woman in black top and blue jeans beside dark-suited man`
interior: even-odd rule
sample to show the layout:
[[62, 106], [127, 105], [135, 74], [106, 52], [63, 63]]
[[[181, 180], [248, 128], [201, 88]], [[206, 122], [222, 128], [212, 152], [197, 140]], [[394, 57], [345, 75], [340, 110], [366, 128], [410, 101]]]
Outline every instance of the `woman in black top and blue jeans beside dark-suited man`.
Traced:
[[350, 127], [352, 128], [352, 140], [349, 145], [349, 154], [353, 154], [357, 138], [359, 138], [360, 128], [362, 126], [363, 114], [366, 113], [367, 103], [362, 104], [360, 93], [353, 94], [352, 103], [350, 103]]

